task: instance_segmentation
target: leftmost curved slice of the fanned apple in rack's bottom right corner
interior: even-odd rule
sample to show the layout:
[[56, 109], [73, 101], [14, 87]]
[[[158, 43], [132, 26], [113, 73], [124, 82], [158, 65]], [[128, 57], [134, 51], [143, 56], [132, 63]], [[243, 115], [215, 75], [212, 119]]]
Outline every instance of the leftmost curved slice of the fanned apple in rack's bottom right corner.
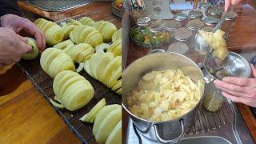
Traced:
[[98, 133], [99, 126], [103, 122], [103, 120], [106, 118], [108, 114], [110, 114], [111, 111], [122, 108], [122, 106], [118, 104], [113, 104], [113, 105], [108, 105], [102, 107], [102, 110], [99, 110], [98, 113], [96, 114], [95, 120], [94, 120], [94, 127], [93, 127], [93, 133], [96, 135]]

